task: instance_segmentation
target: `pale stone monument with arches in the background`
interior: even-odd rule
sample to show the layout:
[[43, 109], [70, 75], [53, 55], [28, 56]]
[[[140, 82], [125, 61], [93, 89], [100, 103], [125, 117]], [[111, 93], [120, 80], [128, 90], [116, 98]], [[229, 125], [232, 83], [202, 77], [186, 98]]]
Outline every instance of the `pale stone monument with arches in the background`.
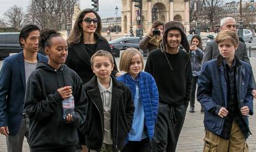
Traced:
[[[132, 0], [121, 0], [122, 4], [122, 33], [129, 33], [130, 25], [137, 29], [138, 9]], [[168, 22], [177, 20], [189, 30], [189, 0], [142, 0], [142, 28], [144, 32], [150, 30], [153, 20]], [[153, 14], [153, 15], [152, 15]]]

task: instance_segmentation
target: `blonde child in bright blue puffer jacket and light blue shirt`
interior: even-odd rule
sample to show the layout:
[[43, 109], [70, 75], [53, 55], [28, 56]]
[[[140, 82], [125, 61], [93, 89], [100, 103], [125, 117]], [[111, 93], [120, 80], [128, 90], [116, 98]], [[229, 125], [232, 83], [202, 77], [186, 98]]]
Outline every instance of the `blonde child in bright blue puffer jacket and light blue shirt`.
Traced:
[[150, 144], [158, 114], [158, 90], [155, 79], [143, 72], [143, 57], [137, 49], [126, 49], [120, 59], [120, 70], [127, 72], [117, 80], [132, 91], [134, 99], [134, 120], [129, 132], [129, 141], [123, 152], [152, 151]]

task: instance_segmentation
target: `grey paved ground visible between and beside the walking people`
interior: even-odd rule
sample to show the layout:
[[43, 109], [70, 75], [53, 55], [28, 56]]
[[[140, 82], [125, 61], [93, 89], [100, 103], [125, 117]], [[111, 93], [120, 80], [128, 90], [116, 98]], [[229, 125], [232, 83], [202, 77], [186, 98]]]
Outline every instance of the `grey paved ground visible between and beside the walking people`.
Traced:
[[[118, 62], [118, 58], [117, 58]], [[256, 57], [251, 57], [250, 62], [256, 75]], [[0, 63], [0, 67], [1, 67]], [[189, 109], [188, 109], [189, 110]], [[254, 111], [256, 111], [256, 100], [254, 100]], [[247, 140], [250, 152], [256, 152], [256, 114], [249, 117], [252, 135]], [[203, 150], [203, 114], [200, 113], [200, 105], [195, 103], [195, 113], [187, 112], [186, 120], [179, 137], [177, 152], [192, 152]], [[5, 137], [0, 135], [0, 152], [7, 151]], [[27, 141], [24, 141], [23, 152], [29, 151]]]

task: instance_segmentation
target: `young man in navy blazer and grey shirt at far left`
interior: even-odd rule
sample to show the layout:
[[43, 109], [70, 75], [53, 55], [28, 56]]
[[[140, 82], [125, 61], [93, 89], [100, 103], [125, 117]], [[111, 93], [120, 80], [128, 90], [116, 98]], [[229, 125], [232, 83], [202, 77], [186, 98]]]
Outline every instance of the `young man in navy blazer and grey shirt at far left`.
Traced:
[[6, 135], [8, 152], [22, 152], [24, 137], [28, 137], [28, 117], [23, 111], [26, 83], [38, 61], [47, 57], [38, 53], [40, 28], [25, 25], [19, 41], [23, 51], [4, 59], [0, 72], [0, 133]]

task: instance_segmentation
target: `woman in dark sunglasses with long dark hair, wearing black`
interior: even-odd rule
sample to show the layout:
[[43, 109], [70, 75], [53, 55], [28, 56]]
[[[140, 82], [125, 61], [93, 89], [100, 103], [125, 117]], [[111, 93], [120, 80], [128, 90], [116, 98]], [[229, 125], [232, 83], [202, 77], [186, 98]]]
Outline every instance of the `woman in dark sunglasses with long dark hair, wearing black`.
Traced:
[[[82, 79], [83, 84], [87, 83], [93, 76], [90, 59], [98, 50], [105, 50], [111, 53], [111, 48], [103, 36], [101, 36], [101, 18], [93, 9], [84, 9], [75, 20], [74, 27], [67, 39], [69, 45], [69, 55], [66, 65], [73, 69]], [[111, 53], [112, 54], [112, 53]], [[114, 70], [111, 73], [114, 76], [121, 75], [117, 71], [114, 61]], [[80, 135], [80, 145], [85, 145], [85, 138]], [[82, 146], [83, 150], [86, 146]]]

